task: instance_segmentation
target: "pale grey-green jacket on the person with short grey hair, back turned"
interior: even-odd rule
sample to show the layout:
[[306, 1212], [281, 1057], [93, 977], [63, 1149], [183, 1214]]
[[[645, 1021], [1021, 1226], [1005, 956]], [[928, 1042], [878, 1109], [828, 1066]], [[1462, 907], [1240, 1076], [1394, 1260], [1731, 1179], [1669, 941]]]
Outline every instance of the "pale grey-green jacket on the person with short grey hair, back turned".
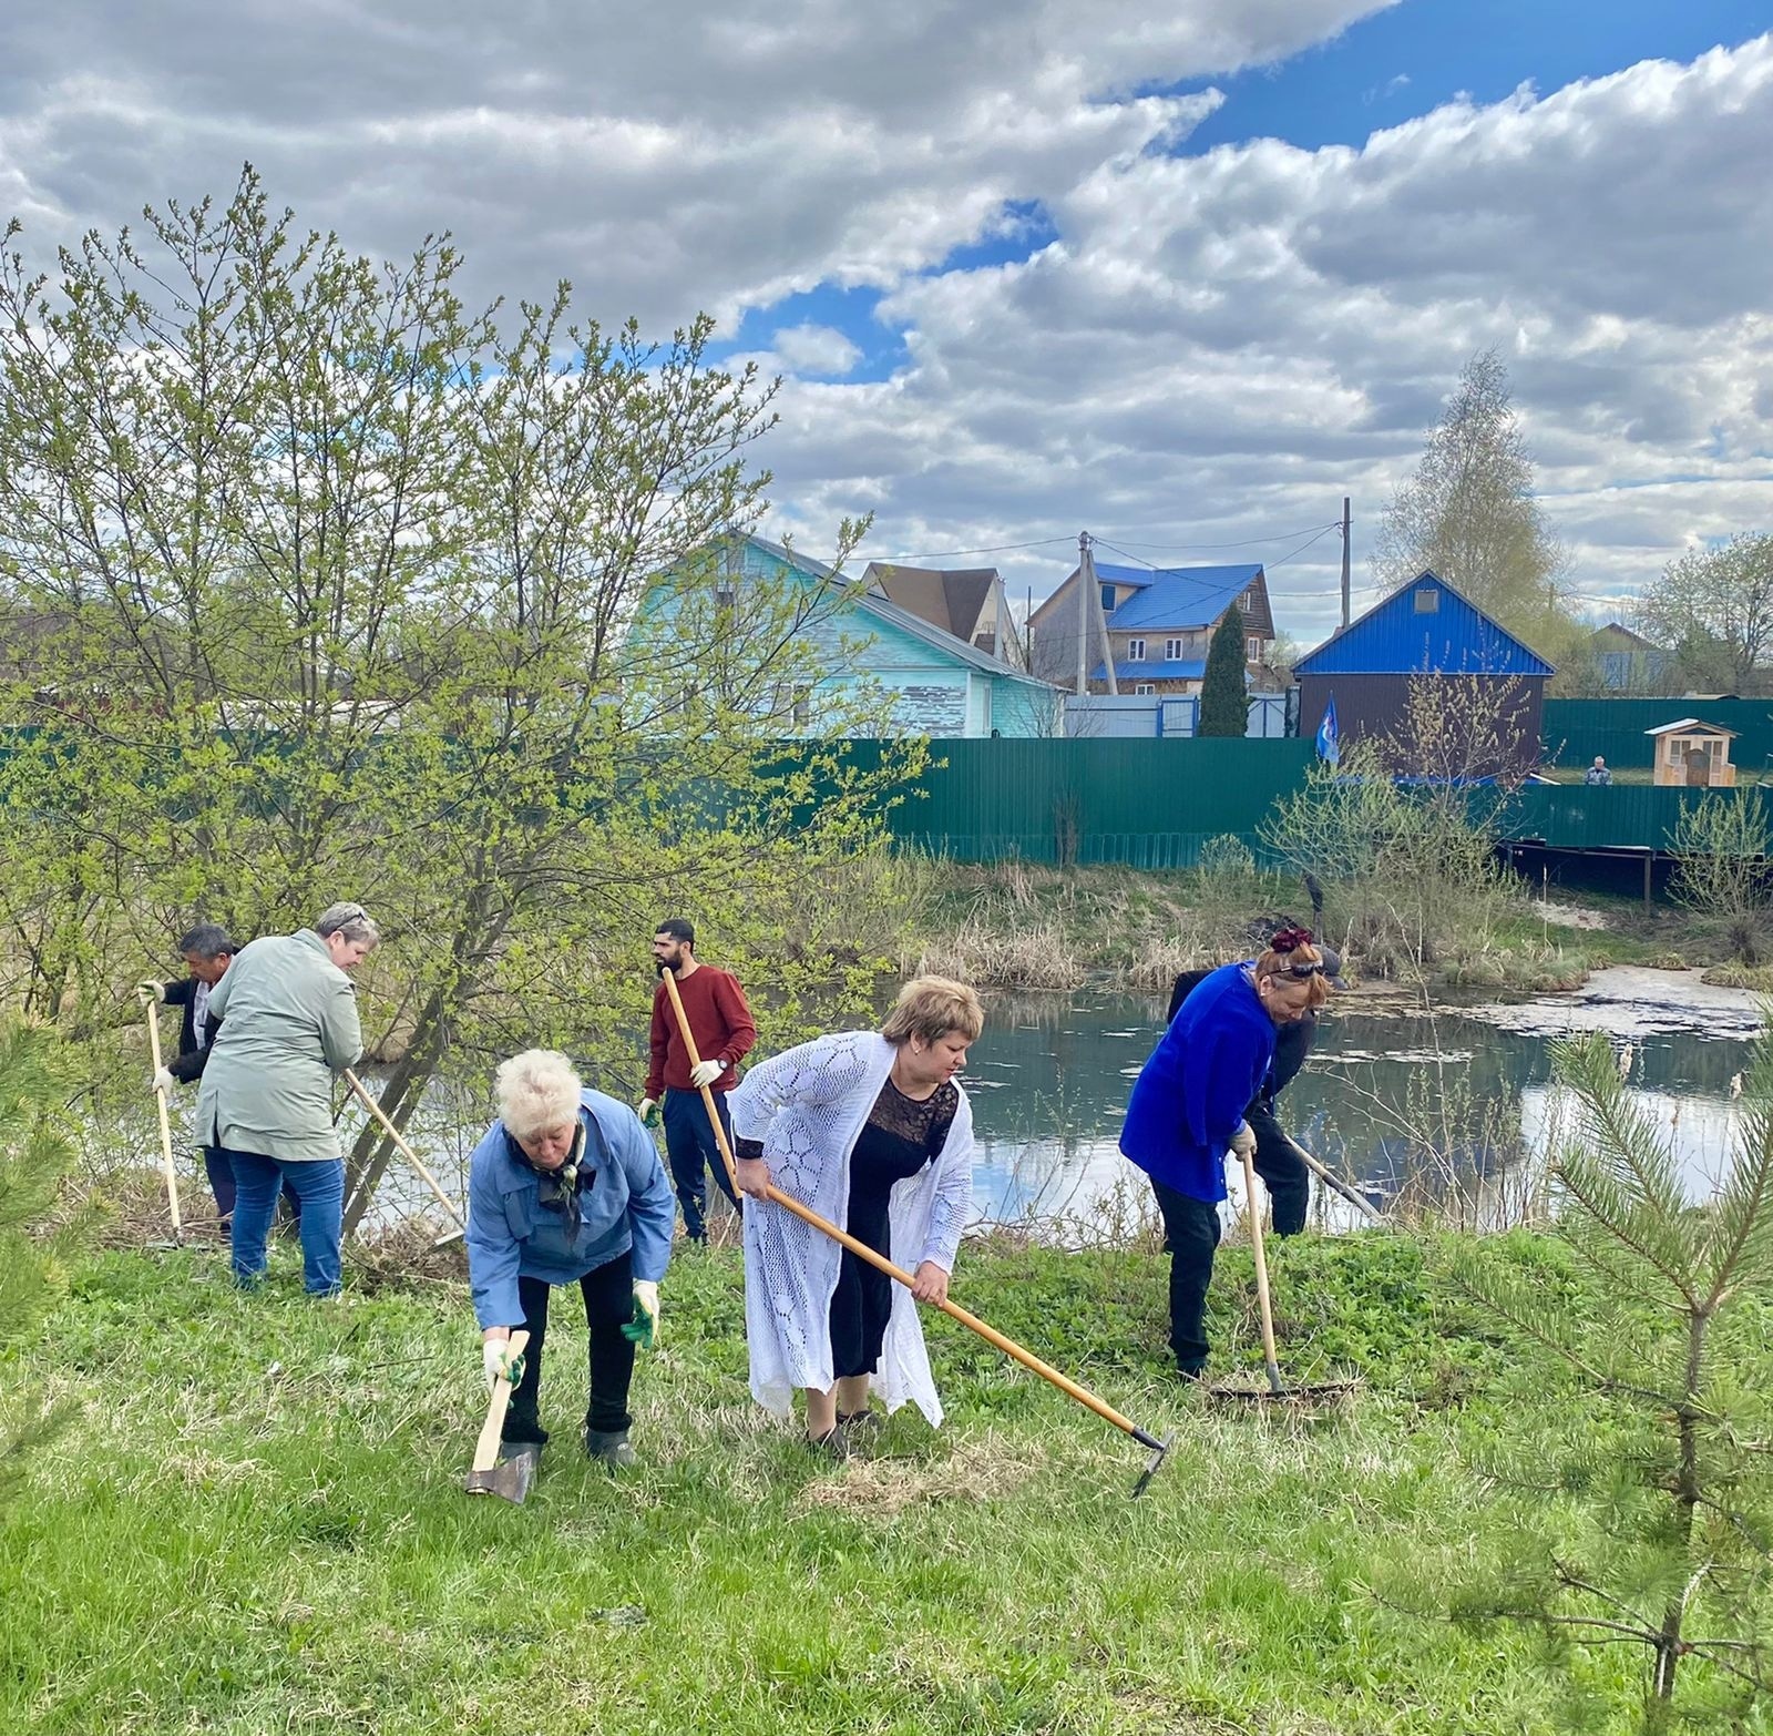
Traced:
[[351, 979], [314, 929], [248, 942], [209, 991], [222, 1020], [197, 1094], [204, 1146], [282, 1163], [340, 1154], [333, 1078], [363, 1053]]

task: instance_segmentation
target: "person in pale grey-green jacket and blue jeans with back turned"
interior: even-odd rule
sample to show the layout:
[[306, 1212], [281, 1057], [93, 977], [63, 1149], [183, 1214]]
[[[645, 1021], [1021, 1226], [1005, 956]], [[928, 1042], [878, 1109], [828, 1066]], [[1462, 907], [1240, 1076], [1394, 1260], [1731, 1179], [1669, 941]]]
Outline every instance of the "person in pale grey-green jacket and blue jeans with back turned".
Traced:
[[333, 1078], [363, 1053], [355, 970], [379, 940], [362, 904], [333, 904], [314, 927], [254, 940], [209, 991], [222, 1021], [197, 1098], [197, 1137], [234, 1170], [234, 1280], [264, 1277], [266, 1239], [287, 1181], [301, 1199], [309, 1294], [339, 1291], [344, 1160]]

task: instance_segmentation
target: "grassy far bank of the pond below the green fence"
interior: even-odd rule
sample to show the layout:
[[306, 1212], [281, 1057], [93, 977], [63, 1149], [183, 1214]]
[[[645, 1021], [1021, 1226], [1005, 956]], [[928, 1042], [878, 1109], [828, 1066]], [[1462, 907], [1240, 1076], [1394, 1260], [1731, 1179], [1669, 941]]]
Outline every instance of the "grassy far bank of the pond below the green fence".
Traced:
[[[1310, 922], [1300, 881], [1261, 872], [926, 862], [920, 876], [904, 963], [995, 988], [1105, 977], [1167, 991], [1179, 970], [1248, 950], [1257, 919]], [[1347, 943], [1360, 975], [1411, 986], [1543, 991], [1574, 988], [1608, 965], [1706, 961], [1677, 911], [1645, 915], [1629, 899], [1583, 904], [1606, 926], [1573, 926], [1525, 887], [1496, 888], [1450, 908], [1410, 949], [1397, 943], [1394, 911], [1342, 908], [1332, 895], [1323, 931]]]

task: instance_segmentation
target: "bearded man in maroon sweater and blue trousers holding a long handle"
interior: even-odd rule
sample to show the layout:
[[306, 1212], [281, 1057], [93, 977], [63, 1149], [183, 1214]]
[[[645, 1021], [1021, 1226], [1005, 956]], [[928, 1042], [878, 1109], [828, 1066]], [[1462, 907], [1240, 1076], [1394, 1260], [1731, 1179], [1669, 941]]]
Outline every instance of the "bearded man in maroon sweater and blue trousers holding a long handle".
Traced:
[[652, 1059], [647, 1066], [647, 1094], [640, 1099], [640, 1119], [651, 1128], [660, 1119], [660, 1099], [665, 1110], [665, 1154], [670, 1158], [670, 1176], [683, 1206], [683, 1227], [691, 1241], [707, 1239], [704, 1206], [707, 1200], [704, 1167], [715, 1172], [720, 1192], [739, 1209], [738, 1195], [727, 1177], [715, 1130], [702, 1103], [702, 1087], [715, 1096], [720, 1124], [727, 1144], [732, 1144], [732, 1122], [727, 1119], [727, 1092], [739, 1082], [734, 1067], [757, 1041], [752, 1009], [745, 1004], [745, 989], [730, 970], [699, 965], [695, 958], [695, 927], [683, 917], [661, 922], [652, 936], [652, 958], [660, 975], [668, 970], [677, 979], [677, 997], [684, 1018], [695, 1036], [695, 1052], [702, 1057], [690, 1066], [683, 1046], [677, 1014], [672, 1011], [665, 984], [652, 991]]

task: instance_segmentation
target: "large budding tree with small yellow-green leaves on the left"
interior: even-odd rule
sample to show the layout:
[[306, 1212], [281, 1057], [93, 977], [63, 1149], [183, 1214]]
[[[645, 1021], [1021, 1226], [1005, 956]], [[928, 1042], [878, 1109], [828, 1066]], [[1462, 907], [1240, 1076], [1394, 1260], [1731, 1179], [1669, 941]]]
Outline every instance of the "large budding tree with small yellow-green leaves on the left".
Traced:
[[[250, 168], [0, 264], [0, 913], [37, 1014], [103, 1023], [193, 915], [356, 897], [404, 1122], [452, 1053], [564, 1044], [621, 1089], [667, 908], [780, 961], [769, 1007], [832, 979], [819, 892], [922, 748], [847, 752], [883, 706], [826, 679], [840, 576], [722, 583], [773, 387], [706, 319], [473, 310], [459, 271], [303, 232]], [[355, 1211], [385, 1158], [365, 1133]]]

